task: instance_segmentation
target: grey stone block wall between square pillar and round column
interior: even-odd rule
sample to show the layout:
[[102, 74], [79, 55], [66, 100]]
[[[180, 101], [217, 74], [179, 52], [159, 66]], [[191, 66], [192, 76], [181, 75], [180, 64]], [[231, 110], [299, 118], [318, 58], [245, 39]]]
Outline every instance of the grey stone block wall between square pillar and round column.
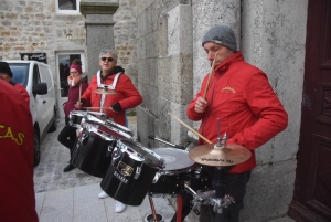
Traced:
[[143, 102], [138, 108], [138, 138], [147, 147], [156, 135], [184, 144], [186, 129], [168, 113], [188, 121], [192, 95], [192, 25], [188, 1], [137, 1], [138, 86]]

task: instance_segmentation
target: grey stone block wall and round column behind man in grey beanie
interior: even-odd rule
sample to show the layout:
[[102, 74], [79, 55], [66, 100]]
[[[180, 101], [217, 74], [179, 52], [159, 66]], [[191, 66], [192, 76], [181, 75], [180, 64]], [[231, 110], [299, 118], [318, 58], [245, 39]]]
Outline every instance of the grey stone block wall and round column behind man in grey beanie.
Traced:
[[[138, 109], [138, 136], [142, 144], [166, 147], [146, 139], [148, 134], [173, 144], [188, 141], [188, 130], [171, 119], [168, 112], [199, 127], [200, 123], [186, 119], [185, 108], [210, 71], [201, 39], [212, 25], [228, 24], [245, 60], [267, 73], [289, 115], [288, 128], [256, 150], [258, 166], [253, 170], [241, 218], [269, 221], [286, 215], [296, 175], [308, 1], [137, 2], [138, 85], [145, 99]], [[186, 27], [180, 25], [181, 21], [186, 21]], [[185, 41], [192, 41], [191, 47]], [[185, 71], [184, 83], [181, 80]]]

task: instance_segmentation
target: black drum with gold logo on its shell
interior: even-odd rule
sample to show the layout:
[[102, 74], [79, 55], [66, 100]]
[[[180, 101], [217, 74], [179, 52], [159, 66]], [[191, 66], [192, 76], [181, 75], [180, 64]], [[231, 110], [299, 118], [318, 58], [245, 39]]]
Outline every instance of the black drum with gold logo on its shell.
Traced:
[[100, 187], [115, 200], [140, 205], [164, 160], [131, 140], [118, 140]]

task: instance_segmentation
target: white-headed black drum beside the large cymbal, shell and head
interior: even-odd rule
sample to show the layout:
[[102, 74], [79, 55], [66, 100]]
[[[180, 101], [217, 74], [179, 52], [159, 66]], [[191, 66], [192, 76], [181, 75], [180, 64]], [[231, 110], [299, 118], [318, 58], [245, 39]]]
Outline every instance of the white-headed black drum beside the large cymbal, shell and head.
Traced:
[[184, 190], [184, 182], [191, 180], [191, 170], [194, 161], [189, 152], [175, 148], [153, 149], [166, 160], [166, 168], [160, 170], [149, 189], [149, 194], [154, 198], [171, 198]]

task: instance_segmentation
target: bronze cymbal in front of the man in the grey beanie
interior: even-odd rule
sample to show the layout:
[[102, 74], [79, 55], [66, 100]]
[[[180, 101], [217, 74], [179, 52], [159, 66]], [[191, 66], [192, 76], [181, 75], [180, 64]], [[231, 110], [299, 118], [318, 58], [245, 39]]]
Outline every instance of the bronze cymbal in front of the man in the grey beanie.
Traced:
[[223, 149], [215, 149], [215, 145], [201, 145], [189, 151], [189, 157], [201, 165], [224, 167], [238, 165], [248, 160], [252, 156], [249, 149], [235, 145], [226, 144]]

